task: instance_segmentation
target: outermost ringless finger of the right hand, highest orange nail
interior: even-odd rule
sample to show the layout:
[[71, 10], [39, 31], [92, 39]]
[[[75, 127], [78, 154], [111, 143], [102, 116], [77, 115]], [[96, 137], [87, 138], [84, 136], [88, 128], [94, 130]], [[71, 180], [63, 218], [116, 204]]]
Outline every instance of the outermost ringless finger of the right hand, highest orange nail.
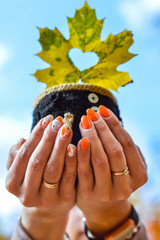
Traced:
[[[108, 117], [106, 117], [106, 112]], [[105, 108], [104, 106], [100, 106], [99, 113], [102, 117], [104, 117], [104, 121], [107, 123], [113, 135], [123, 147], [131, 178], [133, 177], [136, 183], [145, 181], [145, 164], [130, 135], [127, 133], [127, 131], [125, 131], [125, 129], [122, 127], [122, 124], [111, 110]]]

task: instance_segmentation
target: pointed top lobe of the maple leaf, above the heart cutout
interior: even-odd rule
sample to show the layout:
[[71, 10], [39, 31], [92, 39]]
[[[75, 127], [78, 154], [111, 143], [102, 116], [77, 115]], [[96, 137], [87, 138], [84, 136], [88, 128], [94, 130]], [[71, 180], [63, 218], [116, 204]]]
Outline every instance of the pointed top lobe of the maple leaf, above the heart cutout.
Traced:
[[101, 42], [103, 22], [104, 19], [97, 20], [95, 10], [85, 2], [81, 9], [76, 10], [73, 18], [68, 17], [69, 41], [83, 52], [92, 51], [96, 44]]

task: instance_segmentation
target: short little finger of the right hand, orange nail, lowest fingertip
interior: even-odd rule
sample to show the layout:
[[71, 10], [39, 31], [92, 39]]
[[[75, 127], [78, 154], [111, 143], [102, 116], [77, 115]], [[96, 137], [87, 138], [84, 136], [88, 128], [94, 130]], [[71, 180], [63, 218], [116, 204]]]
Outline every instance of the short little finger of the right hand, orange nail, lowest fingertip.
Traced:
[[91, 166], [90, 143], [82, 138], [78, 143], [78, 189], [82, 193], [92, 190], [94, 176]]

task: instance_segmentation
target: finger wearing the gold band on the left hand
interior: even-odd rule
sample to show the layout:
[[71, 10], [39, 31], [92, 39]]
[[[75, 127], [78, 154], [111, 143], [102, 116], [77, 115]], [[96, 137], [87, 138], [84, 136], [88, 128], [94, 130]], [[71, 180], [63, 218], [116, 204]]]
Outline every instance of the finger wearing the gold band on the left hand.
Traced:
[[[72, 135], [72, 129], [68, 124], [64, 124], [57, 134], [54, 148], [52, 150], [49, 161], [45, 166], [43, 175], [43, 179], [49, 184], [60, 182], [64, 168], [67, 146], [71, 142]], [[44, 198], [52, 200], [55, 194], [59, 194], [59, 188], [57, 187], [53, 191], [45, 188], [45, 186], [42, 185], [41, 194], [44, 196]]]

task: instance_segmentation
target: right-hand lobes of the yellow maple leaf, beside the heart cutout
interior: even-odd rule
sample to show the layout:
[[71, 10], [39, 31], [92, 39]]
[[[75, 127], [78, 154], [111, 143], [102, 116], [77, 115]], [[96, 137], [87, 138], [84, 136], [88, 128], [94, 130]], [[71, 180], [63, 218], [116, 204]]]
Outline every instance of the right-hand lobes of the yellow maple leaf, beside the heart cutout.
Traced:
[[132, 80], [126, 72], [119, 72], [116, 68], [130, 60], [135, 54], [128, 49], [133, 44], [132, 33], [125, 30], [116, 36], [110, 34], [104, 42], [100, 42], [93, 51], [98, 55], [99, 62], [88, 69], [81, 78], [84, 83], [94, 84], [117, 91], [119, 86], [125, 86]]

